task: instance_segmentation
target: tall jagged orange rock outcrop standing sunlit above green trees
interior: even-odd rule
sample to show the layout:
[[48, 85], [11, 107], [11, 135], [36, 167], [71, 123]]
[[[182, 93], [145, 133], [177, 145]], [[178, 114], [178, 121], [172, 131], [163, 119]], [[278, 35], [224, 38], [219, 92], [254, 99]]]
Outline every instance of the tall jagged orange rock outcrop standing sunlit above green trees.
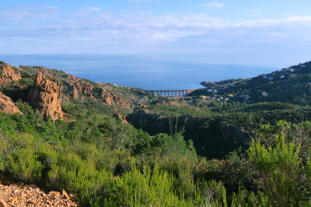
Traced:
[[38, 109], [44, 119], [47, 119], [48, 115], [51, 115], [53, 120], [58, 116], [63, 118], [59, 85], [52, 80], [52, 76], [46, 79], [44, 74], [38, 72], [27, 98], [30, 105]]

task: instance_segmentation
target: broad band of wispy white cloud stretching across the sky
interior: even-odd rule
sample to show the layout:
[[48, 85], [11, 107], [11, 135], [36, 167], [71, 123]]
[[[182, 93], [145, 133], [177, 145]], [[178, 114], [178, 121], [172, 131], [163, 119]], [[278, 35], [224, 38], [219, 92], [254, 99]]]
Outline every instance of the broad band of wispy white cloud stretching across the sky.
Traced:
[[133, 47], [143, 50], [166, 46], [174, 50], [183, 45], [199, 48], [199, 51], [208, 48], [213, 52], [221, 49], [236, 52], [262, 48], [265, 44], [294, 47], [309, 43], [311, 29], [311, 16], [229, 21], [206, 14], [155, 15], [152, 11], [116, 15], [97, 7], [65, 12], [58, 7], [14, 6], [0, 9], [0, 16], [2, 46], [3, 43], [7, 46], [19, 44], [33, 51], [55, 47], [60, 51], [72, 50], [79, 45], [82, 52], [83, 48], [87, 48], [87, 52], [105, 49], [127, 52]]

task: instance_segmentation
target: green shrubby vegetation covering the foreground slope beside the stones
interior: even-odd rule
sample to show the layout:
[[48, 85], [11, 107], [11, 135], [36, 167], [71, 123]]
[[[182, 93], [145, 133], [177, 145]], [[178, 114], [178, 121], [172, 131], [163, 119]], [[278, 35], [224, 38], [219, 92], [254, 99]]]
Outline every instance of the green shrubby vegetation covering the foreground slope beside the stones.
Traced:
[[150, 137], [121, 120], [43, 121], [18, 104], [23, 115], [1, 113], [2, 175], [72, 192], [81, 206], [309, 205], [310, 121], [263, 125], [246, 154], [207, 160], [176, 120]]

